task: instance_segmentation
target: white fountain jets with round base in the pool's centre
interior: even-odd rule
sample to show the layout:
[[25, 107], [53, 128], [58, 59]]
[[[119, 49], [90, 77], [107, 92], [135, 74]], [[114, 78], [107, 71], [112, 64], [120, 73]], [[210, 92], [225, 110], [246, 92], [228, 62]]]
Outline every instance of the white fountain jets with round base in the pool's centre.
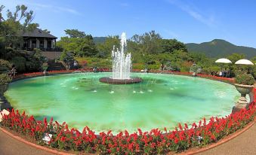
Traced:
[[113, 47], [112, 61], [113, 61], [113, 74], [112, 78], [100, 78], [100, 82], [107, 84], [134, 84], [140, 83], [141, 78], [131, 78], [131, 53], [126, 53], [126, 35], [122, 33], [121, 37], [121, 50]]

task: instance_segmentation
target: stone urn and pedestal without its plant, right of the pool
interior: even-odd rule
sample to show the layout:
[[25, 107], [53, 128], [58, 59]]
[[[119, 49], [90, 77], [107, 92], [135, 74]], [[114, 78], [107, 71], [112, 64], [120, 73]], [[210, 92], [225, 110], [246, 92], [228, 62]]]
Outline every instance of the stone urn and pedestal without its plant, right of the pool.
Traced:
[[240, 111], [242, 108], [247, 108], [249, 102], [246, 100], [246, 94], [251, 93], [254, 85], [243, 85], [243, 84], [235, 84], [236, 90], [241, 93], [239, 101], [236, 102], [236, 105], [232, 109], [232, 113], [236, 111]]

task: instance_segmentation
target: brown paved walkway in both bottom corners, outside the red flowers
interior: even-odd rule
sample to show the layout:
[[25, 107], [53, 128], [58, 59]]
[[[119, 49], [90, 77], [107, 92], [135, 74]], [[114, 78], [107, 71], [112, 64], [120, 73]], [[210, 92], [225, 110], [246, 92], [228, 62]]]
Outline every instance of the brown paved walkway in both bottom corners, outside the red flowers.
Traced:
[[[199, 155], [254, 155], [256, 153], [256, 124], [241, 135], [227, 141], [211, 150], [199, 153]], [[39, 150], [20, 142], [0, 130], [0, 154], [1, 155], [51, 155], [45, 150]]]

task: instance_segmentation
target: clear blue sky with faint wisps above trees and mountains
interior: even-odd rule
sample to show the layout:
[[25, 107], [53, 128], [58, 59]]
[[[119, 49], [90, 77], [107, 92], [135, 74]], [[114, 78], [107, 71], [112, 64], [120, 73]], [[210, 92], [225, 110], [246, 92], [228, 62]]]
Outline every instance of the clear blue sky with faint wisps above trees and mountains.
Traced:
[[221, 38], [256, 47], [254, 0], [0, 0], [14, 10], [24, 4], [35, 12], [34, 22], [52, 35], [79, 29], [93, 36], [128, 38], [156, 30], [162, 38], [201, 43]]

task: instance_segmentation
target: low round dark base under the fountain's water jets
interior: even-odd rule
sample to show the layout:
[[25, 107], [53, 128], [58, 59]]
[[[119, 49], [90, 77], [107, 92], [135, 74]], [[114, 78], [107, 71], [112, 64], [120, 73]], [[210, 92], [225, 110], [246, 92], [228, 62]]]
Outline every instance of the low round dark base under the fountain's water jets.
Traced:
[[100, 78], [100, 82], [106, 84], [136, 84], [142, 82], [141, 78], [130, 78], [130, 79], [113, 79], [109, 77]]

